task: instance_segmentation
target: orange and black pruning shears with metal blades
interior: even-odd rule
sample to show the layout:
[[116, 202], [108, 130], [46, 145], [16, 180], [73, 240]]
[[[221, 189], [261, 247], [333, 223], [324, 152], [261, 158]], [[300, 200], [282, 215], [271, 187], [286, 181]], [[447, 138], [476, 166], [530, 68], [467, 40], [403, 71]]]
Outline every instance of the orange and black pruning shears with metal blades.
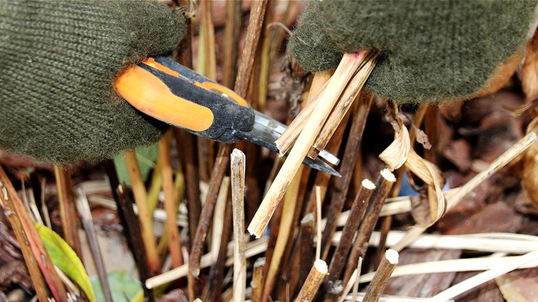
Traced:
[[[252, 109], [233, 90], [175, 61], [148, 58], [120, 74], [115, 86], [123, 99], [150, 117], [214, 141], [235, 143], [246, 139], [279, 152], [275, 141], [286, 125]], [[325, 150], [319, 157], [339, 163]], [[307, 157], [303, 163], [340, 176], [319, 158]]]

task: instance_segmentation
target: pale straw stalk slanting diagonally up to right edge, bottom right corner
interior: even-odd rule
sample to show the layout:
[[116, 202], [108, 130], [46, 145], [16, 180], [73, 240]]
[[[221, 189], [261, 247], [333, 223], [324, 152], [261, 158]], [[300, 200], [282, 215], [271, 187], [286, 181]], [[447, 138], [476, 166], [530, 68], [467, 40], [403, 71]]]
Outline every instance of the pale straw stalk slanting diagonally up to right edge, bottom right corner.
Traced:
[[519, 256], [517, 257], [517, 259], [510, 261], [510, 263], [506, 263], [506, 265], [499, 265], [497, 266], [497, 268], [486, 270], [486, 272], [481, 272], [480, 274], [477, 274], [476, 276], [472, 276], [469, 279], [466, 279], [465, 281], [461, 281], [460, 283], [453, 285], [451, 288], [448, 288], [447, 290], [444, 290], [443, 292], [440, 292], [439, 294], [432, 296], [430, 298], [430, 301], [442, 302], [448, 299], [455, 298], [456, 296], [459, 296], [459, 294], [462, 294], [466, 292], [467, 290], [470, 290], [471, 288], [475, 288], [476, 286], [481, 285], [482, 283], [485, 283], [487, 281], [490, 281], [491, 279], [494, 279], [497, 276], [501, 276], [501, 274], [506, 274], [507, 272], [511, 272], [512, 270], [519, 268], [521, 265], [524, 265], [531, 261], [535, 261], [537, 259], [538, 259], [538, 250], [525, 254], [524, 256]]

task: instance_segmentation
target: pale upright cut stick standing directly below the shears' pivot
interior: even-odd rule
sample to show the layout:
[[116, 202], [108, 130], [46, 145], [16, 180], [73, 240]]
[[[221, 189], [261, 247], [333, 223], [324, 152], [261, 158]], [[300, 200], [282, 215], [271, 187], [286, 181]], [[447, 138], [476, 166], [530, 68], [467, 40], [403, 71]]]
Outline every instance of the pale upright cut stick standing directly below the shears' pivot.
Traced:
[[232, 171], [232, 206], [234, 220], [234, 302], [245, 301], [245, 154], [234, 149], [230, 155]]

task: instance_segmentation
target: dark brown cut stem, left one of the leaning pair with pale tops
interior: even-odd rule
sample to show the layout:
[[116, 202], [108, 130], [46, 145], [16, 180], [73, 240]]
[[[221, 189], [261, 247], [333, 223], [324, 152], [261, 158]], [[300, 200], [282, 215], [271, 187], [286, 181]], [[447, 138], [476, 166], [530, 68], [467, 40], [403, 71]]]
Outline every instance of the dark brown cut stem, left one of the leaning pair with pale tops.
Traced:
[[346, 225], [343, 226], [340, 241], [334, 256], [332, 256], [332, 261], [330, 261], [329, 276], [323, 283], [323, 294], [330, 292], [332, 284], [340, 278], [343, 266], [346, 264], [349, 250], [353, 245], [353, 237], [359, 228], [359, 224], [363, 219], [362, 217], [374, 190], [375, 184], [372, 183], [372, 181], [368, 179], [362, 181], [362, 187], [353, 201], [348, 221], [346, 221]]

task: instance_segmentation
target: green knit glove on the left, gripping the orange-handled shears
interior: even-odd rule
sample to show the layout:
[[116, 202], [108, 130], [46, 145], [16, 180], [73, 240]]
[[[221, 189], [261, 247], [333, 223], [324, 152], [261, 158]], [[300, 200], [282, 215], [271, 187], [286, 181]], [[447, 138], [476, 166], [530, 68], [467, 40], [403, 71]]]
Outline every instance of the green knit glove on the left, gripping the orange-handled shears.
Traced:
[[71, 163], [157, 141], [166, 125], [121, 99], [114, 77], [185, 31], [159, 3], [0, 0], [0, 149]]

